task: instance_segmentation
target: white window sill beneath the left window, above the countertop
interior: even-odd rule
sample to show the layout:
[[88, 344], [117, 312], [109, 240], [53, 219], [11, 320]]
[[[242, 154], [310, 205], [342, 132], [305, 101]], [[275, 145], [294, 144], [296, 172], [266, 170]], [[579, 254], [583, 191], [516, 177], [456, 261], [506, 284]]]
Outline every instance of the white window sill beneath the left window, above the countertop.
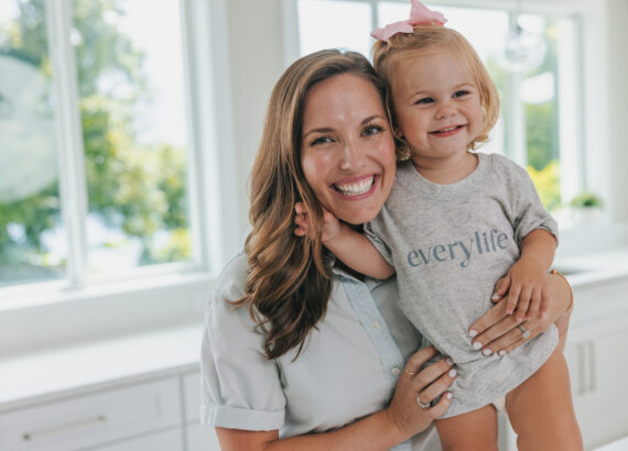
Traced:
[[198, 322], [213, 280], [209, 273], [170, 274], [10, 299], [0, 305], [0, 355]]

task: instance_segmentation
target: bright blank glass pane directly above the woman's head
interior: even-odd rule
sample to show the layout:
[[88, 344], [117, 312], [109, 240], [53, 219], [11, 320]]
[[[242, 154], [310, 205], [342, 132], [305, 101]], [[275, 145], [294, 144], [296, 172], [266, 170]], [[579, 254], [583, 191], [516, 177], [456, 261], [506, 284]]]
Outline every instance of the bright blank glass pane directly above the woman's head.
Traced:
[[371, 9], [367, 2], [299, 0], [301, 55], [347, 48], [370, 55]]

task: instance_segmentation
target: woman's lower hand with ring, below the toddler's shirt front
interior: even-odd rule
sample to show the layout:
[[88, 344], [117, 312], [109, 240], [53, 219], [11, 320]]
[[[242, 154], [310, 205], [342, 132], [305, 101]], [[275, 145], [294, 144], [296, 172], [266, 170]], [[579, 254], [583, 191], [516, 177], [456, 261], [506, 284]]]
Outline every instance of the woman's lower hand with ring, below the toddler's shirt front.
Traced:
[[[456, 377], [450, 359], [440, 360], [421, 371], [421, 366], [436, 355], [433, 346], [415, 352], [399, 376], [394, 396], [387, 408], [388, 418], [398, 428], [403, 440], [425, 430], [427, 426], [450, 407], [447, 387]], [[442, 395], [442, 396], [441, 396]], [[433, 406], [429, 405], [441, 396]]]

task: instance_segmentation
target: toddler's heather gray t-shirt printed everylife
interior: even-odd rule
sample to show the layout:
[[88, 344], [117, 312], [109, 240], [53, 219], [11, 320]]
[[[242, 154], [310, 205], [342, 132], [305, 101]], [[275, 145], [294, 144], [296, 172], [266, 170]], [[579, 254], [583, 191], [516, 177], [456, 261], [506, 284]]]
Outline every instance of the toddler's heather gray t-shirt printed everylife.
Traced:
[[491, 306], [495, 283], [534, 229], [557, 235], [528, 174], [508, 158], [478, 153], [463, 180], [436, 185], [398, 166], [392, 191], [367, 237], [397, 271], [401, 310], [458, 367], [445, 415], [476, 410], [531, 376], [557, 343], [552, 327], [504, 356], [472, 348], [468, 327]]

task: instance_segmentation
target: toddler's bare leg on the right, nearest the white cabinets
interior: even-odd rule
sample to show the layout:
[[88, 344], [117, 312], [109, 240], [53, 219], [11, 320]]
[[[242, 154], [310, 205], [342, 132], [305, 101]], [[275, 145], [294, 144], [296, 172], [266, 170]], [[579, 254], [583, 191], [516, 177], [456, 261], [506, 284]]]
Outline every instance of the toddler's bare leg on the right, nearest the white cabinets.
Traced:
[[583, 449], [567, 363], [559, 349], [537, 373], [508, 394], [506, 410], [520, 451]]

